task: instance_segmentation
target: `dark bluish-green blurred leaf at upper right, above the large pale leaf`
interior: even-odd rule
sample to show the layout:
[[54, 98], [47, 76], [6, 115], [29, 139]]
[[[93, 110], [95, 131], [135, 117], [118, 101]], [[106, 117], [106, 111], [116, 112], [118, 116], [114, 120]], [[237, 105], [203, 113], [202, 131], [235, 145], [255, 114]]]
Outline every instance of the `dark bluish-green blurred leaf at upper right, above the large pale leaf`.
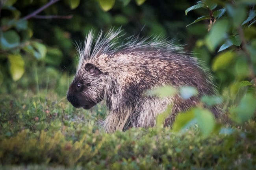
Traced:
[[232, 17], [233, 26], [236, 28], [238, 26], [241, 26], [243, 20], [246, 17], [246, 9], [244, 6], [232, 6], [232, 5], [226, 5], [226, 9], [229, 13], [229, 15]]

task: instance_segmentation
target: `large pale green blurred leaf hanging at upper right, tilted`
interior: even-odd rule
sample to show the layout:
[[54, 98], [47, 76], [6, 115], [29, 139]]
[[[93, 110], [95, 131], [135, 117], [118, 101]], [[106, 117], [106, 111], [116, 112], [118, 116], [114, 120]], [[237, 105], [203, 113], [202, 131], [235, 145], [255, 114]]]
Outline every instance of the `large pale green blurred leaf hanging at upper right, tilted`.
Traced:
[[228, 20], [218, 20], [206, 36], [206, 45], [210, 51], [214, 51], [219, 43], [226, 37], [228, 31]]

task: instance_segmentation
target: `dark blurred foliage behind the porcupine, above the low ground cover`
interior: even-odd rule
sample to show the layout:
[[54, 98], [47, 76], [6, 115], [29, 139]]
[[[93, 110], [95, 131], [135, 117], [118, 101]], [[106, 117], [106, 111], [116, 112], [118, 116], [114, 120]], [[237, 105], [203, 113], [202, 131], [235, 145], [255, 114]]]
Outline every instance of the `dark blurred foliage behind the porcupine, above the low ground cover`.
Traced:
[[[1, 0], [0, 92], [55, 88], [65, 97], [75, 43], [93, 29], [124, 37], [163, 36], [184, 44], [215, 76], [226, 101], [255, 95], [254, 0]], [[67, 81], [68, 80], [68, 81]]]

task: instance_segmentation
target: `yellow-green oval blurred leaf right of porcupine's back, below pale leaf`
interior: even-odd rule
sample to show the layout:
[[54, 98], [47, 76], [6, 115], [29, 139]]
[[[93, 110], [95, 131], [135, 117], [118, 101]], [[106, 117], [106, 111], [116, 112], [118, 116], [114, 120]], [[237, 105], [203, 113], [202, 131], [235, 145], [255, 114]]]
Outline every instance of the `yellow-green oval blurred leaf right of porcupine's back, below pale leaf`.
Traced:
[[226, 51], [217, 55], [217, 57], [215, 57], [215, 59], [213, 60], [213, 71], [225, 69], [231, 63], [235, 56], [236, 53], [233, 51]]

